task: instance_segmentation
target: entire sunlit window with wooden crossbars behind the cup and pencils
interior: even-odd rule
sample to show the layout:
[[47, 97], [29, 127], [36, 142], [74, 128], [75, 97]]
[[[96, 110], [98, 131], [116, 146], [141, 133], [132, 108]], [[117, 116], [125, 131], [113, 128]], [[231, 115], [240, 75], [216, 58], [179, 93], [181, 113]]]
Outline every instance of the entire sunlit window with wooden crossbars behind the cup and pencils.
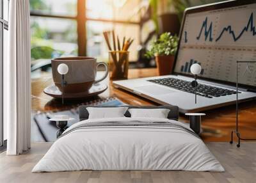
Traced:
[[120, 38], [134, 38], [129, 58], [137, 61], [140, 13], [136, 7], [140, 1], [30, 0], [31, 71], [38, 62], [49, 65], [41, 70], [51, 70], [54, 57], [94, 56], [107, 61], [102, 31], [113, 29]]

